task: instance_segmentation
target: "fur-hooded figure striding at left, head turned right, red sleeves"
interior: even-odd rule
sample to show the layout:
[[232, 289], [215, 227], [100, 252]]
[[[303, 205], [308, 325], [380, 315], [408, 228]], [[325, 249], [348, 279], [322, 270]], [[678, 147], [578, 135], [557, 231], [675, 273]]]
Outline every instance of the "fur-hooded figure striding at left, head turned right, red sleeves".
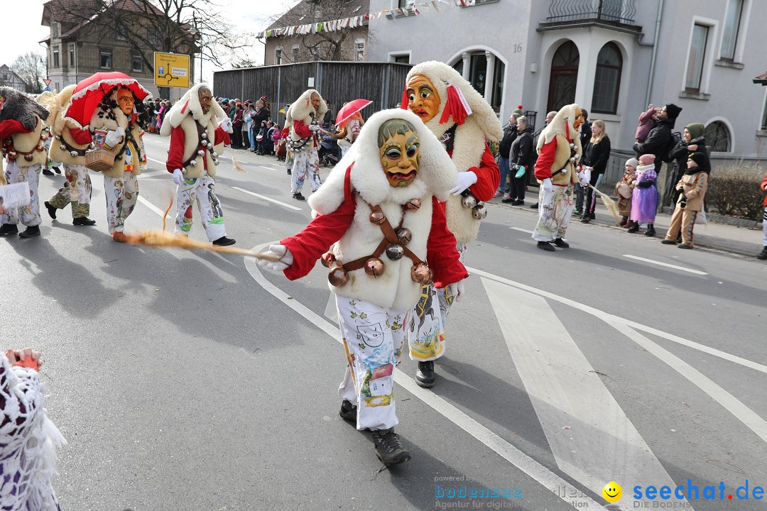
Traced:
[[224, 246], [235, 243], [226, 237], [213, 181], [229, 133], [232, 122], [204, 84], [189, 89], [165, 116], [160, 135], [170, 136], [166, 168], [177, 185], [176, 233], [189, 234], [196, 203], [208, 240]]

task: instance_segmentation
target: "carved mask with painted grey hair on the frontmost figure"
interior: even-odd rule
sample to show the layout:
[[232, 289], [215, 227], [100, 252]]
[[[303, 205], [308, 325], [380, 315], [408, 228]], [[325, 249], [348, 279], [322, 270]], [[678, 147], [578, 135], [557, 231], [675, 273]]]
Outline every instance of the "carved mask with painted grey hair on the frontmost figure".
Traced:
[[407, 186], [416, 179], [421, 154], [412, 124], [402, 119], [387, 120], [378, 129], [378, 149], [390, 186]]

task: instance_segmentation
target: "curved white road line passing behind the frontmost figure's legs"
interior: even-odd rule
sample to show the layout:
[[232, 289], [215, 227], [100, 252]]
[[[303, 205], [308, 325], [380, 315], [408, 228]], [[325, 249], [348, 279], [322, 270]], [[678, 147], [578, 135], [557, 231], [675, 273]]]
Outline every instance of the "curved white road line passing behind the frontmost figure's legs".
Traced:
[[[261, 251], [267, 246], [268, 243], [260, 244], [256, 247], [253, 247], [252, 250]], [[340, 332], [336, 326], [321, 318], [321, 316], [318, 316], [316, 313], [309, 310], [306, 306], [298, 303], [298, 300], [292, 299], [290, 296], [288, 296], [287, 293], [280, 290], [274, 284], [266, 280], [266, 278], [261, 274], [261, 270], [258, 269], [258, 263], [256, 263], [255, 260], [251, 260], [248, 257], [245, 257], [245, 268], [247, 268], [253, 279], [255, 279], [255, 281], [261, 287], [268, 291], [268, 293], [271, 293], [272, 296], [275, 296], [275, 298], [280, 300], [282, 303], [285, 303], [285, 305], [290, 307], [292, 310], [295, 310], [295, 312], [301, 314], [301, 316], [307, 319], [310, 323], [313, 323], [314, 326], [317, 326], [318, 329], [321, 329], [323, 332], [327, 333], [328, 336], [331, 336], [338, 342], [342, 342]], [[455, 406], [450, 405], [447, 401], [445, 401], [443, 398], [440, 398], [432, 391], [426, 390], [425, 388], [420, 388], [418, 385], [416, 385], [410, 375], [406, 375], [400, 371], [400, 369], [395, 369], [394, 381], [409, 391], [411, 394], [413, 394], [416, 398], [419, 398], [421, 401], [426, 403], [426, 405], [429, 405], [436, 412], [442, 414], [449, 421], [453, 422], [453, 424], [456, 424], [456, 426], [463, 429], [463, 431], [466, 431], [466, 433], [472, 435], [472, 437], [475, 437], [478, 441], [482, 442], [482, 444], [485, 444], [487, 447], [495, 451], [496, 454], [499, 454], [499, 456], [509, 461], [509, 463], [513, 464], [519, 470], [527, 473], [528, 476], [532, 477], [532, 479], [536, 480], [538, 483], [544, 486], [547, 491], [551, 491], [552, 488], [558, 488], [561, 486], [570, 486], [568, 482], [563, 480], [557, 474], [551, 472], [551, 470], [548, 470], [548, 468], [544, 467], [542, 464], [539, 464], [537, 461], [532, 459], [532, 457], [529, 457], [527, 454], [523, 453], [521, 450], [518, 450], [512, 444], [509, 444], [509, 442], [503, 440], [488, 428], [482, 426], [482, 424], [479, 424], [479, 422], [470, 418], [468, 415], [463, 413], [463, 411], [460, 411]], [[581, 494], [581, 492], [578, 493]], [[561, 498], [561, 500], [564, 500], [568, 504], [572, 502], [583, 503], [581, 507], [588, 507], [591, 509], [593, 506], [596, 509], [604, 509], [600, 503], [597, 503], [596, 501], [592, 500], [591, 497], [585, 495], [570, 497], [565, 494], [558, 496]]]

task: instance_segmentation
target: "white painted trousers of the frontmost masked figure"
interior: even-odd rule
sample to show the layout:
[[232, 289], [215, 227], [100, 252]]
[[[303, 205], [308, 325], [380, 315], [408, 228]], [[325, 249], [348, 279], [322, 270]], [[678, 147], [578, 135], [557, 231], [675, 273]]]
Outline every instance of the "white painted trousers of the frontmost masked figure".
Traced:
[[358, 430], [394, 427], [394, 368], [405, 339], [405, 313], [340, 295], [336, 307], [347, 355], [338, 395], [357, 406]]

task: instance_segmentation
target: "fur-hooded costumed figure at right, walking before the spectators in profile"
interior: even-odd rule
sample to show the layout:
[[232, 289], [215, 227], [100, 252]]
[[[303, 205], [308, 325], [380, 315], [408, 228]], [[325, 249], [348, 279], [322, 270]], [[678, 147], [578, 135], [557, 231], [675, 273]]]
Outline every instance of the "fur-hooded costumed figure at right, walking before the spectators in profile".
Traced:
[[565, 232], [573, 212], [573, 187], [586, 186], [591, 179], [588, 168], [581, 170], [581, 136], [583, 113], [576, 104], [563, 106], [551, 123], [538, 136], [538, 160], [535, 177], [541, 183], [538, 191], [538, 224], [532, 238], [538, 248], [555, 251], [551, 246], [567, 248]]

